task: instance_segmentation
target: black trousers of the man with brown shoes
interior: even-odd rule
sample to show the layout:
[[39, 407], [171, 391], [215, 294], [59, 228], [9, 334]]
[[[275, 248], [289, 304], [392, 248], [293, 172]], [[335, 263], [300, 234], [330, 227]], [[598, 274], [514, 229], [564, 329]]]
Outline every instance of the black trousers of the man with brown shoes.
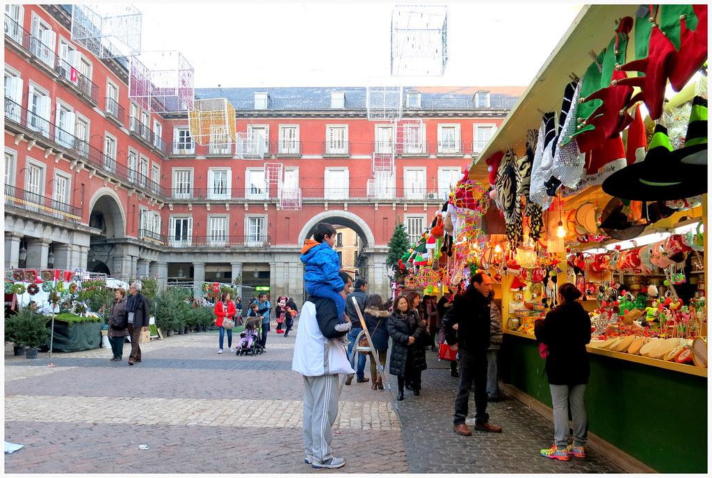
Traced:
[[475, 385], [475, 423], [486, 423], [487, 413], [487, 350], [468, 352], [459, 349], [460, 388], [455, 399], [453, 423], [465, 423], [470, 400], [470, 388]]

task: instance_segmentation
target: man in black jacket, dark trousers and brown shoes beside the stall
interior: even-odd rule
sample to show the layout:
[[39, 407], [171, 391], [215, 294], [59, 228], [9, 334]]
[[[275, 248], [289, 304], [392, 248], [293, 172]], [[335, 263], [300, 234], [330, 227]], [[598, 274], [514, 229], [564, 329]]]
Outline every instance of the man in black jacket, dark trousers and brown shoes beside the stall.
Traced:
[[460, 389], [455, 400], [454, 429], [459, 435], [472, 432], [465, 425], [470, 388], [475, 385], [475, 430], [501, 432], [489, 423], [487, 413], [487, 349], [490, 345], [490, 299], [492, 280], [482, 272], [470, 279], [470, 287], [455, 299], [445, 313], [445, 339], [459, 353]]

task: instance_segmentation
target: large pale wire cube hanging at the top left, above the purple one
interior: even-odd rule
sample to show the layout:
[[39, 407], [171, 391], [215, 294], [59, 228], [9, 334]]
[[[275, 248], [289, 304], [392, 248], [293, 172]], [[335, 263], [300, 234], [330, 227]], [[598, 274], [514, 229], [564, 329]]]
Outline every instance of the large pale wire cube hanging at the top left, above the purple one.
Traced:
[[99, 58], [138, 55], [141, 16], [127, 4], [74, 4], [71, 40]]

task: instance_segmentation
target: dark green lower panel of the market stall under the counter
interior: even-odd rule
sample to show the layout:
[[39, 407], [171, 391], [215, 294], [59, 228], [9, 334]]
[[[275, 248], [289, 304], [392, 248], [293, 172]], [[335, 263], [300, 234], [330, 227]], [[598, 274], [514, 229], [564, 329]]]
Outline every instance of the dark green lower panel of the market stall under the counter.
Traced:
[[[589, 430], [661, 473], [707, 472], [707, 378], [590, 354]], [[536, 341], [505, 334], [504, 383], [551, 407]]]

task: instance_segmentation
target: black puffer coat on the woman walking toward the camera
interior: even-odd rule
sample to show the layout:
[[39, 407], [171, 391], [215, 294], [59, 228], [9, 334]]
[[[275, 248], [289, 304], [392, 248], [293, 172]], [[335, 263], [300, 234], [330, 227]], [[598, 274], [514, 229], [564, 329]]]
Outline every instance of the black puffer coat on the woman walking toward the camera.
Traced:
[[[425, 335], [425, 325], [423, 321], [417, 319], [415, 313], [410, 310], [407, 315], [394, 312], [388, 316], [388, 335], [393, 339], [391, 349], [391, 364], [389, 372], [392, 375], [405, 376], [405, 365], [408, 358], [408, 351], [413, 358], [413, 370], [423, 371], [428, 368], [425, 363], [425, 349], [419, 345], [419, 341]], [[415, 337], [415, 342], [408, 345], [408, 338]]]

